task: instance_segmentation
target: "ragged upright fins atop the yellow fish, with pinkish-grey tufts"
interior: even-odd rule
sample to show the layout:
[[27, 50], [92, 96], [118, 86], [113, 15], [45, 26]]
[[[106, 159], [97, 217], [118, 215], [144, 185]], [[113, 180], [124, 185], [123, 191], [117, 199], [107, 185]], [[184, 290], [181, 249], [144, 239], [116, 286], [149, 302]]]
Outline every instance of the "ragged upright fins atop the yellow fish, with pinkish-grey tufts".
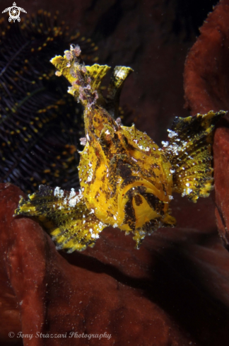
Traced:
[[85, 107], [91, 108], [96, 103], [106, 108], [110, 115], [116, 117], [122, 86], [133, 70], [130, 67], [115, 67], [105, 98], [102, 96], [100, 85], [110, 67], [99, 64], [85, 66], [81, 61], [81, 50], [78, 46], [71, 45], [70, 50], [66, 50], [64, 53], [64, 57], [54, 57], [51, 62], [57, 68], [57, 76], [63, 75], [71, 83], [69, 93]]

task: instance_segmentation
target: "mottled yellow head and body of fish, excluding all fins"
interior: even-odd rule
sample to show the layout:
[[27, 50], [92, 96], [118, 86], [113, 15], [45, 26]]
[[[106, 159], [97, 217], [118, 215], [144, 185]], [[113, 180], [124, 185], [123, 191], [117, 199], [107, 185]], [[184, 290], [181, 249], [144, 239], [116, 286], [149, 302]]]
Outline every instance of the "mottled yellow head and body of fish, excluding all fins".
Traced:
[[[87, 207], [105, 224], [124, 231], [141, 229], [154, 219], [172, 221], [167, 214], [171, 165], [163, 151], [134, 125], [117, 125], [105, 110], [87, 110], [86, 117], [93, 118], [93, 127], [86, 129], [88, 142], [81, 152], [78, 174]], [[160, 212], [148, 204], [138, 188], [145, 188], [144, 194], [162, 202]], [[130, 225], [124, 208], [131, 199], [136, 220]]]

